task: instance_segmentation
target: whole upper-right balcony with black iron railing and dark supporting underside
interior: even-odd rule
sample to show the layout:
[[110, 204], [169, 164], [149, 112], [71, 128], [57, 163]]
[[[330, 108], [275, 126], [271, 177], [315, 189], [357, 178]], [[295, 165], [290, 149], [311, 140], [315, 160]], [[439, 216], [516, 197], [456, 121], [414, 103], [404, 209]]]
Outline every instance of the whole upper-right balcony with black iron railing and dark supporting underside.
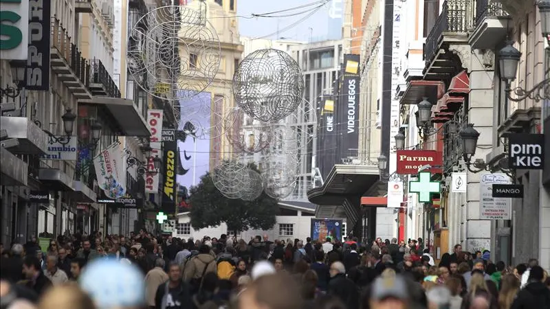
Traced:
[[[461, 63], [456, 60], [452, 49], [456, 45], [467, 45], [467, 30], [472, 25], [468, 13], [472, 1], [445, 0], [441, 14], [426, 38], [424, 58], [426, 69], [424, 76], [428, 80], [451, 78], [460, 69]], [[458, 68], [457, 68], [458, 67]]]

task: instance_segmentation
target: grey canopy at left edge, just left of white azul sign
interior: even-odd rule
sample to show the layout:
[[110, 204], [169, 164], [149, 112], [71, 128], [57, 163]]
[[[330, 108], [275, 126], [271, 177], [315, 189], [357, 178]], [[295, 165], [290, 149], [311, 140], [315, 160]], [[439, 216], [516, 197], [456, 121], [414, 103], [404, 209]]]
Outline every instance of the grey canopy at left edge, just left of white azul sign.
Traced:
[[9, 139], [18, 139], [19, 145], [10, 152], [25, 155], [44, 155], [47, 151], [48, 136], [27, 117], [0, 117], [0, 129], [8, 133]]

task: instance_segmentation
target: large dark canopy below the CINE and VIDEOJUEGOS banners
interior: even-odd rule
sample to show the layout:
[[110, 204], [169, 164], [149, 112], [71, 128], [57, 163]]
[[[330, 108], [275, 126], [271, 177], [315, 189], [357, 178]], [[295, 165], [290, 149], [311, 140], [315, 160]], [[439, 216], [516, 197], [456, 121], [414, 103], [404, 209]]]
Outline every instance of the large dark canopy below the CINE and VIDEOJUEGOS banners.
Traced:
[[307, 192], [311, 203], [318, 205], [318, 218], [347, 218], [349, 227], [360, 220], [360, 200], [377, 183], [379, 171], [375, 165], [336, 164], [325, 180], [325, 184]]

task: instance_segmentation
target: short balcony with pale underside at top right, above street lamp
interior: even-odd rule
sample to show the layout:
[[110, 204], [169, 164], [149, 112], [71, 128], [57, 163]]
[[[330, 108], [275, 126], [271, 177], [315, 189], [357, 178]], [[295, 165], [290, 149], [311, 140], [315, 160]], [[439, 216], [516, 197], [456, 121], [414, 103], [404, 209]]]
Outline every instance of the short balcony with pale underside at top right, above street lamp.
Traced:
[[509, 15], [496, 0], [476, 0], [475, 10], [470, 45], [475, 49], [495, 49], [506, 38]]

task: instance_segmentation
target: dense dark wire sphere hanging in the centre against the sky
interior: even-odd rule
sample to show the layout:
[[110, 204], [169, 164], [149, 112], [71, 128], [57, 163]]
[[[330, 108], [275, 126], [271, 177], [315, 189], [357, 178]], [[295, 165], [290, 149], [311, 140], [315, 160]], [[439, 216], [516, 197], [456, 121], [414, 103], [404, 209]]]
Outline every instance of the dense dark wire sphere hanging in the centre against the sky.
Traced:
[[259, 49], [246, 56], [233, 76], [236, 104], [261, 122], [277, 122], [302, 102], [304, 80], [298, 63], [277, 49]]

